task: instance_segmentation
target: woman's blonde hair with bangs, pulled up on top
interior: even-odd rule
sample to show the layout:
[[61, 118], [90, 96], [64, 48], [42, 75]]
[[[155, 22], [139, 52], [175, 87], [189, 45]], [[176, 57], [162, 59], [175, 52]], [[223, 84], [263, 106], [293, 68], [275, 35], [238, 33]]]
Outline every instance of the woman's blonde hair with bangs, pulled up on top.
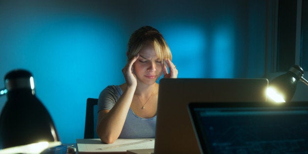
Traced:
[[143, 26], [131, 34], [128, 41], [128, 60], [137, 55], [147, 41], [153, 42], [155, 53], [160, 60], [167, 58], [172, 60], [172, 54], [165, 39], [152, 26]]

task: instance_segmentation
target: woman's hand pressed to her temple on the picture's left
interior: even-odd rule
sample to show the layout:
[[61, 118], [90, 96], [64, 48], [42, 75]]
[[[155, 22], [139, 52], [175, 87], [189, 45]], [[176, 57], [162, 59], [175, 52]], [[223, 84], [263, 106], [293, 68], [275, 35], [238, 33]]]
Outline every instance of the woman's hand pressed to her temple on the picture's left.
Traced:
[[139, 58], [139, 53], [134, 56], [131, 60], [128, 61], [128, 63], [125, 65], [125, 67], [122, 69], [122, 73], [124, 75], [124, 78], [126, 80], [126, 83], [128, 86], [136, 86], [137, 85], [137, 78], [133, 71], [133, 63]]

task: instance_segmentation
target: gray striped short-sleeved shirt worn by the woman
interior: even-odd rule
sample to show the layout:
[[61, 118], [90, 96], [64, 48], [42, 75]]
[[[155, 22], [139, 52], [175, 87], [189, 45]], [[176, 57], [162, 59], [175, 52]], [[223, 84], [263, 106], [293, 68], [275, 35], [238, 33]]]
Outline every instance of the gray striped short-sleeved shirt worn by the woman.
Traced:
[[[111, 110], [123, 94], [118, 85], [109, 85], [100, 94], [98, 107], [100, 110]], [[123, 129], [119, 138], [154, 138], [156, 129], [156, 115], [152, 118], [141, 118], [129, 107]]]

